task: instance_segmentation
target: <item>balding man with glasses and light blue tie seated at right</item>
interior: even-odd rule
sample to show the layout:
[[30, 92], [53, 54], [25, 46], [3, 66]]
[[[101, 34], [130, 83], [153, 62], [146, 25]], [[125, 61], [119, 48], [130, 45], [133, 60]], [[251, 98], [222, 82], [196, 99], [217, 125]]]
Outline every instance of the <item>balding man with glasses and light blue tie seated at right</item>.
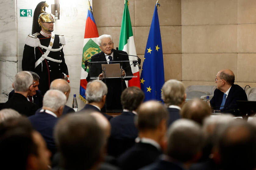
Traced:
[[222, 113], [239, 115], [236, 100], [246, 100], [245, 91], [235, 82], [235, 75], [231, 70], [220, 70], [215, 78], [217, 89], [210, 101], [213, 110], [221, 110]]

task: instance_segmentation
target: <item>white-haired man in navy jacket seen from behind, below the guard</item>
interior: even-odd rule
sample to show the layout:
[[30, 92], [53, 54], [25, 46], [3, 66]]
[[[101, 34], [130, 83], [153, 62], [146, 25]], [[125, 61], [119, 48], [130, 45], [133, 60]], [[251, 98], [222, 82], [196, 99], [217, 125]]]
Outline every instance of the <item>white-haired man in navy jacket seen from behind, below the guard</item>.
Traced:
[[66, 101], [66, 96], [61, 91], [48, 90], [44, 94], [43, 108], [39, 113], [28, 117], [34, 129], [44, 137], [47, 148], [52, 152], [52, 155], [56, 152], [53, 128], [62, 115]]

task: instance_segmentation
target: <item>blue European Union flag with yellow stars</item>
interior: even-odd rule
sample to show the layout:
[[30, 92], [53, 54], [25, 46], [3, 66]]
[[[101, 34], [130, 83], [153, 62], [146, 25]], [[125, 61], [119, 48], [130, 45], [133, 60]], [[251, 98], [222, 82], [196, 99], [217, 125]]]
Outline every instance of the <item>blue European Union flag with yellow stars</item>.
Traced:
[[157, 7], [155, 6], [140, 75], [140, 86], [145, 93], [145, 101], [161, 100], [161, 89], [164, 83], [162, 41]]

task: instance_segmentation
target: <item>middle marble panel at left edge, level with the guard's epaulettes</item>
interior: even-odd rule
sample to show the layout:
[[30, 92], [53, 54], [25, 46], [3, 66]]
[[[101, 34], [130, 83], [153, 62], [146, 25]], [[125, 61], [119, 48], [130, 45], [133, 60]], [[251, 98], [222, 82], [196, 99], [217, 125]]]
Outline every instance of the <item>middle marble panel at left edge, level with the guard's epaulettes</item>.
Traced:
[[0, 32], [0, 56], [17, 55], [17, 31]]

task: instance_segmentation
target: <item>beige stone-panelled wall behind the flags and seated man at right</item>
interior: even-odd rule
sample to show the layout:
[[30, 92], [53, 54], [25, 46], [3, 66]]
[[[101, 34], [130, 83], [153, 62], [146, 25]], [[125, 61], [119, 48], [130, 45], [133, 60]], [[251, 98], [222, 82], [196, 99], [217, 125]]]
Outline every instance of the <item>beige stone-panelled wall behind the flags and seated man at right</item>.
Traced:
[[[129, 0], [137, 55], [143, 58], [156, 0]], [[165, 81], [215, 85], [221, 69], [236, 83], [256, 87], [255, 0], [159, 0]], [[93, 0], [99, 34], [119, 44], [123, 0]], [[109, 10], [108, 10], [109, 9]]]

